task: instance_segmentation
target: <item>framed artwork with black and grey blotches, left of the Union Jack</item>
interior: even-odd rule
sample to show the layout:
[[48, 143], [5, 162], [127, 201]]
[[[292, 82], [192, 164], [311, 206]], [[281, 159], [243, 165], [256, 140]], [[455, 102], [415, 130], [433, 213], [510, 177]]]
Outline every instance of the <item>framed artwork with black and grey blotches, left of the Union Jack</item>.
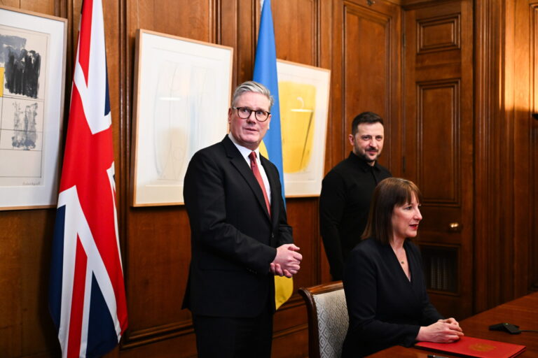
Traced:
[[56, 205], [67, 20], [0, 6], [0, 210]]

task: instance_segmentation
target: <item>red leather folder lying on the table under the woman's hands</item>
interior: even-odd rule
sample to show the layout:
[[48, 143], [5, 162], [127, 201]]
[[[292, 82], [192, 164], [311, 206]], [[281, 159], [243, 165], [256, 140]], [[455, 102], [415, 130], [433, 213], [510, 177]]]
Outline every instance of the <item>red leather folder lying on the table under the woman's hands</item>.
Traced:
[[463, 336], [459, 341], [454, 343], [419, 342], [415, 344], [415, 347], [479, 358], [511, 358], [516, 357], [516, 355], [519, 355], [525, 350], [525, 345], [467, 336]]

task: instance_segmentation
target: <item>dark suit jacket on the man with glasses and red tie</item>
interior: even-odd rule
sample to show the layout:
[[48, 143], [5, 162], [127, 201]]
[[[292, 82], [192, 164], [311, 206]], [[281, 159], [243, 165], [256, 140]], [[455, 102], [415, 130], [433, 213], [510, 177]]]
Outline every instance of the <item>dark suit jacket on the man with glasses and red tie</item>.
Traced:
[[195, 315], [255, 317], [275, 310], [269, 264], [292, 243], [277, 168], [260, 156], [271, 188], [271, 215], [249, 164], [228, 136], [195, 153], [184, 182], [191, 265], [184, 308]]

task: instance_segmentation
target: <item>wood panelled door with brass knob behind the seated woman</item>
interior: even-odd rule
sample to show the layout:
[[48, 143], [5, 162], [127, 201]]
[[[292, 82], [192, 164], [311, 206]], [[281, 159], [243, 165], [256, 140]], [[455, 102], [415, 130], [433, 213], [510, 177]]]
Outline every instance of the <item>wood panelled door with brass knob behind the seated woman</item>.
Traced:
[[420, 188], [418, 243], [441, 314], [472, 310], [472, 1], [404, 8], [402, 175]]

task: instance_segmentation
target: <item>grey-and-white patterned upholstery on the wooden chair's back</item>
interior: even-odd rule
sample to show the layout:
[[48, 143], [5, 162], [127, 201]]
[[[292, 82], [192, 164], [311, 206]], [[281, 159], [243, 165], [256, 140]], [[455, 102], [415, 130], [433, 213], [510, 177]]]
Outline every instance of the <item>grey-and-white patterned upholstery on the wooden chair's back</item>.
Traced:
[[341, 357], [349, 319], [343, 289], [314, 296], [319, 334], [319, 356]]

